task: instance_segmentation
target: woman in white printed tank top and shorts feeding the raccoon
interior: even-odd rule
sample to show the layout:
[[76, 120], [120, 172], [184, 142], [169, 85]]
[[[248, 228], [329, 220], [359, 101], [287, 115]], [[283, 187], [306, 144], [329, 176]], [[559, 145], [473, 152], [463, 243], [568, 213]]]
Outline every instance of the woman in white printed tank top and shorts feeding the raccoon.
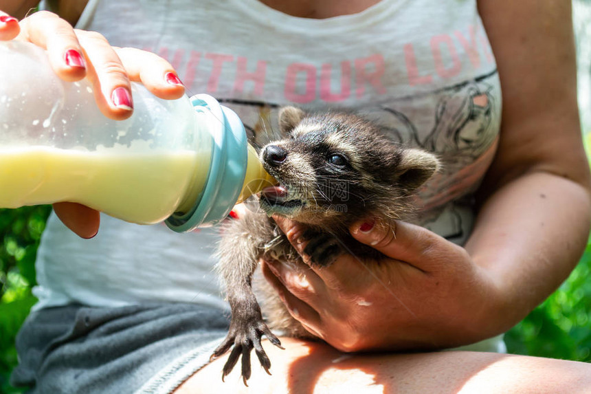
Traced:
[[[12, 14], [29, 7], [12, 3], [4, 7]], [[57, 9], [81, 10], [72, 4]], [[72, 22], [79, 16], [65, 15]], [[2, 23], [0, 36], [12, 39], [16, 21]], [[192, 93], [231, 105], [253, 132], [274, 129], [267, 119], [280, 105], [344, 107], [381, 122], [405, 144], [441, 155], [447, 169], [421, 195], [425, 227], [397, 223], [392, 232], [368, 218], [351, 228], [392, 259], [380, 277], [348, 255], [309, 270], [306, 283], [280, 263], [263, 264], [291, 314], [331, 346], [282, 338], [285, 351], [266, 347], [273, 375], [255, 369], [253, 390], [346, 384], [410, 393], [575, 393], [588, 386], [589, 367], [576, 362], [462, 351], [339, 352], [439, 349], [491, 338], [526, 316], [577, 263], [588, 235], [590, 187], [568, 3], [101, 0], [85, 8], [81, 25], [109, 41], [74, 32], [47, 13], [21, 21], [19, 39], [46, 46], [62, 78], [87, 74], [111, 118], [131, 114], [130, 79], [175, 98], [183, 92], [180, 75]], [[175, 67], [109, 42], [153, 50]], [[81, 237], [98, 231], [97, 212], [54, 208]], [[199, 246], [214, 232], [181, 239], [158, 226], [101, 220], [94, 239], [78, 241], [50, 219], [37, 263], [40, 304], [19, 336], [22, 360], [13, 381], [40, 392], [245, 389], [234, 375], [221, 382], [224, 358], [206, 362], [225, 324], [215, 318], [220, 298], [208, 251]], [[298, 227], [279, 224], [302, 252]], [[189, 327], [196, 320], [211, 323]], [[48, 328], [58, 321], [59, 329]], [[41, 339], [32, 340], [33, 332]], [[24, 357], [34, 349], [45, 349], [43, 357]]]

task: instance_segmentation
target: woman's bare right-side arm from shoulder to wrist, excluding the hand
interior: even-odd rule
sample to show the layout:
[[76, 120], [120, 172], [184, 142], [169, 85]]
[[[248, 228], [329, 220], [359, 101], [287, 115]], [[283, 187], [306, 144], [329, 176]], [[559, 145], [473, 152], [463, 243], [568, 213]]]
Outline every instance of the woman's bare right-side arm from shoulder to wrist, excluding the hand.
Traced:
[[504, 330], [579, 260], [590, 228], [590, 177], [570, 1], [478, 5], [501, 77], [502, 134], [466, 250], [495, 277]]

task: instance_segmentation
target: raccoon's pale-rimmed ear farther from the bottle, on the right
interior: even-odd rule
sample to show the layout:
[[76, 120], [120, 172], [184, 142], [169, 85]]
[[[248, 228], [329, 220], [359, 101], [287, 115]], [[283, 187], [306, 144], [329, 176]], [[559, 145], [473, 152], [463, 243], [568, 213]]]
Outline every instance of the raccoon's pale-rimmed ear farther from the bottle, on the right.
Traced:
[[439, 170], [439, 160], [421, 149], [405, 149], [396, 168], [398, 183], [412, 192]]

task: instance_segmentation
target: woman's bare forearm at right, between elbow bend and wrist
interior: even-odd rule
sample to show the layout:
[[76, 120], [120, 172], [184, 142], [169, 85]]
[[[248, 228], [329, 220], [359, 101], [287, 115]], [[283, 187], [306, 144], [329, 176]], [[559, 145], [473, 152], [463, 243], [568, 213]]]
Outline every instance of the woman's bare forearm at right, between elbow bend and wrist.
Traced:
[[498, 289], [491, 331], [509, 329], [568, 277], [590, 218], [589, 190], [552, 173], [526, 173], [489, 197], [466, 250]]

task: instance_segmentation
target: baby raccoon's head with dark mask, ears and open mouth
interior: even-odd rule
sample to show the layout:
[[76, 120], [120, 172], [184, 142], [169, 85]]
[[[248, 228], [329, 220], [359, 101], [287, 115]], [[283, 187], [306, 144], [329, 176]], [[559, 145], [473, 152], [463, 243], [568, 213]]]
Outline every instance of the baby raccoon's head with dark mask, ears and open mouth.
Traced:
[[280, 111], [280, 128], [287, 138], [260, 153], [279, 182], [261, 193], [260, 206], [269, 215], [315, 224], [403, 209], [402, 199], [438, 168], [430, 153], [394, 144], [357, 116], [309, 116], [287, 107]]

